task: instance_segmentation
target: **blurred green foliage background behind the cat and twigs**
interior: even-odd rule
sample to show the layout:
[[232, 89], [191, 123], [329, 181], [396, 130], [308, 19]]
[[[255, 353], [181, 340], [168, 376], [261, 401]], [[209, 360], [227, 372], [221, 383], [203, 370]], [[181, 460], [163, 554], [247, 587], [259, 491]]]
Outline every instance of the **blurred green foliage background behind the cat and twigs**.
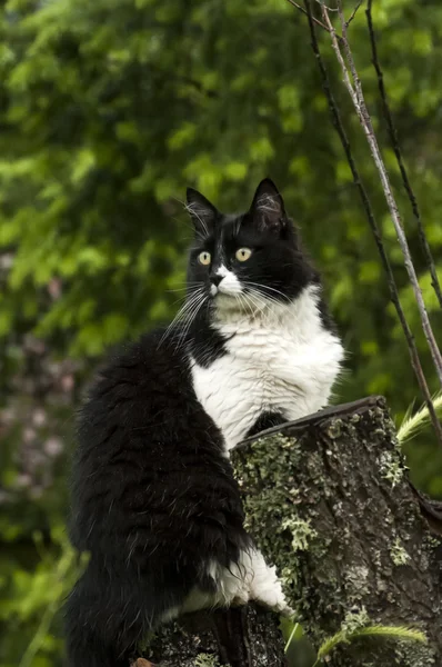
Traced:
[[[352, 47], [438, 332], [363, 9]], [[177, 310], [187, 185], [234, 210], [271, 176], [324, 273], [349, 351], [335, 400], [383, 394], [400, 418], [421, 399], [305, 17], [285, 0], [10, 0], [0, 11], [0, 666], [59, 667], [57, 611], [76, 569], [64, 532], [74, 409], [109, 346]], [[442, 278], [442, 4], [378, 0], [373, 16]], [[435, 390], [365, 139], [329, 36], [320, 40]], [[430, 430], [408, 458], [416, 485], [442, 497]]]

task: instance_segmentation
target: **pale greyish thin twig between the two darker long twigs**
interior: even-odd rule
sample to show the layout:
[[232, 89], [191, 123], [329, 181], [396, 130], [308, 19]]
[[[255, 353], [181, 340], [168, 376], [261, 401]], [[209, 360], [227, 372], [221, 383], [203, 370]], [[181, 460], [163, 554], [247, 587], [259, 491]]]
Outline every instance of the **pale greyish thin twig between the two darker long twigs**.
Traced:
[[344, 49], [346, 62], [349, 63], [350, 71], [351, 71], [351, 74], [353, 78], [354, 88], [353, 88], [353, 84], [351, 83], [350, 74], [349, 74], [349, 70], [346, 68], [345, 61], [340, 51], [335, 30], [333, 28], [333, 24], [330, 20], [330, 17], [329, 17], [328, 11], [324, 8], [324, 6], [322, 6], [322, 18], [325, 22], [325, 26], [328, 26], [328, 28], [329, 28], [329, 32], [330, 32], [330, 36], [332, 39], [332, 46], [333, 46], [334, 52], [336, 53], [336, 58], [339, 60], [339, 63], [341, 66], [341, 69], [342, 69], [343, 76], [344, 76], [343, 80], [344, 80], [345, 87], [349, 91], [349, 94], [352, 99], [353, 106], [356, 110], [359, 120], [361, 122], [362, 129], [365, 133], [365, 138], [366, 138], [366, 141], [370, 147], [371, 155], [372, 155], [374, 163], [376, 166], [378, 173], [381, 179], [382, 189], [383, 189], [383, 192], [385, 196], [386, 205], [389, 207], [390, 216], [391, 216], [392, 222], [394, 225], [398, 241], [399, 241], [399, 245], [401, 247], [402, 255], [404, 258], [405, 269], [409, 275], [410, 283], [411, 283], [411, 287], [412, 287], [412, 290], [414, 292], [414, 297], [415, 297], [415, 300], [418, 303], [418, 310], [419, 310], [421, 322], [422, 322], [422, 329], [423, 329], [424, 336], [426, 338], [426, 342], [429, 344], [429, 348], [430, 348], [431, 357], [433, 359], [434, 368], [436, 370], [439, 381], [442, 387], [442, 355], [438, 347], [436, 340], [434, 338], [433, 330], [431, 328], [430, 318], [426, 312], [421, 286], [419, 285], [418, 275], [415, 272], [413, 261], [411, 258], [410, 248], [409, 248], [409, 243], [406, 241], [405, 232], [403, 230], [402, 220], [401, 220], [401, 217], [399, 213], [398, 205], [394, 199], [394, 195], [393, 195], [393, 191], [391, 188], [389, 175], [386, 172], [385, 165], [383, 162], [383, 158], [382, 158], [379, 145], [378, 145], [378, 140], [374, 135], [373, 126], [371, 122], [371, 117], [370, 117], [369, 110], [365, 104], [365, 99], [364, 99], [363, 91], [362, 91], [361, 80], [359, 78], [356, 67], [354, 64], [353, 53], [351, 52], [351, 49], [350, 49], [350, 43], [349, 43], [349, 39], [348, 39], [348, 33], [346, 33], [346, 23], [345, 23], [343, 9], [342, 9], [342, 0], [336, 0], [336, 2], [338, 2], [338, 10], [339, 10], [338, 14], [339, 14], [339, 18], [341, 21], [341, 29], [342, 29], [342, 40], [340, 43], [343, 46], [343, 49]]

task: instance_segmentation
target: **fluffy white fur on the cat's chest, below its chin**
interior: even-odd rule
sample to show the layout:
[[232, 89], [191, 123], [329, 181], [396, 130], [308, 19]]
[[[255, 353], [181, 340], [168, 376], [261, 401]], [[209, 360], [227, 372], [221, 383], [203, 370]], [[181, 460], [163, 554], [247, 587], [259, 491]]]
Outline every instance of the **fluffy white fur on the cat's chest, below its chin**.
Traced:
[[262, 412], [293, 420], [328, 404], [343, 349], [322, 326], [315, 287], [290, 306], [269, 306], [254, 317], [222, 310], [215, 326], [228, 339], [228, 354], [209, 368], [192, 360], [193, 386], [228, 449]]

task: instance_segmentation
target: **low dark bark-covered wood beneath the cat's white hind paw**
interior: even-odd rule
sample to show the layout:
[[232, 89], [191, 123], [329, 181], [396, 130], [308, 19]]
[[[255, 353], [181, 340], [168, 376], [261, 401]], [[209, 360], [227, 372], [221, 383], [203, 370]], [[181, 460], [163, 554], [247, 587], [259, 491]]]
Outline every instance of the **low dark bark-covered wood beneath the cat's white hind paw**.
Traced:
[[189, 614], [160, 628], [132, 667], [285, 667], [277, 614], [255, 605]]

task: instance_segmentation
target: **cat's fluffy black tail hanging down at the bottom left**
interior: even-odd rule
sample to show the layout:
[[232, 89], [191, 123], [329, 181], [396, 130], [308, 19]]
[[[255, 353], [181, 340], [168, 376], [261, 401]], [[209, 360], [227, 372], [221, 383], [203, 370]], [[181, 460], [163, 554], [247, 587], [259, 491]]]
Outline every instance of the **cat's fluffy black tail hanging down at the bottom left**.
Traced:
[[69, 596], [66, 648], [69, 667], [129, 667], [154, 624], [145, 586], [88, 567]]

